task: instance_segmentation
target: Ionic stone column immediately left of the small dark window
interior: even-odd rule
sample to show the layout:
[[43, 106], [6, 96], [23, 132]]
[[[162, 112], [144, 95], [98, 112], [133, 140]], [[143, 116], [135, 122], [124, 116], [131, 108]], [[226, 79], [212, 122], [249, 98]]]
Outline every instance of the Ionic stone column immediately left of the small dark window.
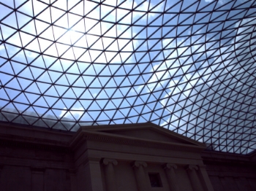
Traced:
[[135, 161], [134, 163], [132, 163], [132, 167], [135, 170], [135, 177], [136, 177], [136, 182], [138, 186], [138, 191], [148, 191], [149, 185], [147, 184], [148, 182], [146, 181], [146, 176], [144, 171], [144, 168], [147, 167], [147, 163], [143, 161]]

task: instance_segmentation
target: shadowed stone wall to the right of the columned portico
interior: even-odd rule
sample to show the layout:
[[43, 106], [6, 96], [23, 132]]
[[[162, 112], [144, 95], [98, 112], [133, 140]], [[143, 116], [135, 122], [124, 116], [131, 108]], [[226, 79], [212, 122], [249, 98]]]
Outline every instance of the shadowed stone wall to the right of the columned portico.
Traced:
[[233, 155], [220, 152], [203, 152], [214, 190], [253, 191], [256, 190], [256, 163], [252, 155]]

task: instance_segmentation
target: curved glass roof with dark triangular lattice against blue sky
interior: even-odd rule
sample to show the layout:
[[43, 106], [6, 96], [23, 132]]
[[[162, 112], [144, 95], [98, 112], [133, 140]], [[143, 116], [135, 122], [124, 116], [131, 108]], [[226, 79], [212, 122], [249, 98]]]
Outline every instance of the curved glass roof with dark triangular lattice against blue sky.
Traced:
[[255, 150], [256, 1], [0, 1], [0, 120], [154, 122]]

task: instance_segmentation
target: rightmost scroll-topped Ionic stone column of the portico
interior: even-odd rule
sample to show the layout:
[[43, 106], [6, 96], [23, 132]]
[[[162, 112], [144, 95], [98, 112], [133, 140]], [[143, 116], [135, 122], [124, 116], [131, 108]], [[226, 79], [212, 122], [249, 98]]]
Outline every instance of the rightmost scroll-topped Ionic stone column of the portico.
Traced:
[[187, 165], [187, 173], [189, 174], [189, 179], [192, 184], [192, 188], [194, 191], [203, 191], [203, 187], [201, 185], [200, 179], [197, 176], [198, 167], [196, 165]]

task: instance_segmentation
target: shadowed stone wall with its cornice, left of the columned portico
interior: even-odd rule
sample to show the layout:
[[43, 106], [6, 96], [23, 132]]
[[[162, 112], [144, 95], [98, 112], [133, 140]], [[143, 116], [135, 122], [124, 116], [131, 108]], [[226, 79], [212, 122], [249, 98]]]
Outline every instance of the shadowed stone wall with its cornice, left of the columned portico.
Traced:
[[0, 125], [0, 190], [71, 190], [72, 134]]

